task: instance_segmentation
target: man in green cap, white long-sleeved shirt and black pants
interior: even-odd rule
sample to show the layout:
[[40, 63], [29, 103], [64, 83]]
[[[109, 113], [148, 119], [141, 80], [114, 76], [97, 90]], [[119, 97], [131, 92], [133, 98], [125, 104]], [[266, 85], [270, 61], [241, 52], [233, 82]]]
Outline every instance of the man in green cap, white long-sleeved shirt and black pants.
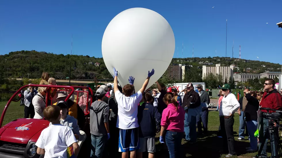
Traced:
[[224, 151], [228, 150], [228, 155], [225, 157], [232, 157], [235, 152], [235, 140], [233, 136], [234, 112], [240, 108], [240, 104], [235, 95], [231, 93], [230, 85], [224, 84], [221, 88], [222, 101], [219, 109], [219, 120], [223, 138]]

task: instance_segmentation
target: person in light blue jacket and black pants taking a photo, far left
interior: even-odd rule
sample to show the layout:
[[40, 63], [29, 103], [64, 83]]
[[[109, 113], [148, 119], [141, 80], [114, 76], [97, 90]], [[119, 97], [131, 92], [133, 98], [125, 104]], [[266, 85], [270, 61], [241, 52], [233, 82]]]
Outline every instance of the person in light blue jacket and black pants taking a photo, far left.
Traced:
[[29, 83], [28, 89], [24, 91], [24, 118], [33, 118], [35, 115], [34, 106], [32, 104], [33, 97], [37, 94], [37, 91], [34, 87], [31, 87], [33, 83]]

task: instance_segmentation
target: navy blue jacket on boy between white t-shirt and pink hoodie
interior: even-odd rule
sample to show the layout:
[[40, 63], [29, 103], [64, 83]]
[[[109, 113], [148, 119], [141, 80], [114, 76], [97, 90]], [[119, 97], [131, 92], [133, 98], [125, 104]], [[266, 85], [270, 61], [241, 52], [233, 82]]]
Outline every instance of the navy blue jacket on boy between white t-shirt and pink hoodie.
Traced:
[[139, 137], [150, 138], [156, 136], [156, 122], [161, 123], [161, 114], [157, 106], [144, 103], [138, 106]]

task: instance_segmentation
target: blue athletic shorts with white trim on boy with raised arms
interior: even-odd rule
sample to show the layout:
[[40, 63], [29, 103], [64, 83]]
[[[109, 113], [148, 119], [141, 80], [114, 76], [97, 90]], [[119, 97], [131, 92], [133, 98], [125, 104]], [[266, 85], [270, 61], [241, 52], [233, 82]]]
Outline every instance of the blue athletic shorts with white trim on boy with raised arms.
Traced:
[[119, 129], [119, 152], [139, 149], [138, 128]]

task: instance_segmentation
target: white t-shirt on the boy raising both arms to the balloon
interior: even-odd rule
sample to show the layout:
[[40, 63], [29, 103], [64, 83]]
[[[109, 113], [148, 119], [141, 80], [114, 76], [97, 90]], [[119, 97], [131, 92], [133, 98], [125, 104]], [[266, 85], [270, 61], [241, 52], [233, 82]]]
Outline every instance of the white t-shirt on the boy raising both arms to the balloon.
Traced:
[[118, 103], [117, 128], [131, 129], [139, 127], [138, 124], [138, 104], [142, 100], [142, 93], [137, 93], [126, 97], [120, 91], [115, 92], [115, 98]]

